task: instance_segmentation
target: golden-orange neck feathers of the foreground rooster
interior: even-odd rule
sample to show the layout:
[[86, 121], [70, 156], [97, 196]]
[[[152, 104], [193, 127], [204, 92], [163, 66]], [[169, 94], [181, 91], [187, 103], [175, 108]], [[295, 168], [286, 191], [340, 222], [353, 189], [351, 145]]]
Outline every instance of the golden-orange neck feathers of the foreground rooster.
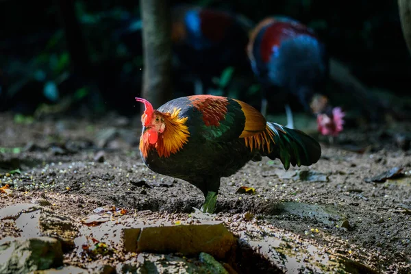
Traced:
[[159, 112], [164, 118], [166, 127], [163, 133], [159, 133], [158, 141], [155, 144], [149, 144], [148, 138], [144, 138], [144, 134], [148, 134], [148, 132], [141, 134], [140, 151], [144, 158], [147, 158], [149, 151], [154, 148], [160, 157], [169, 157], [171, 153], [177, 153], [188, 142], [188, 136], [190, 136], [186, 125], [188, 117], [179, 118], [179, 112], [180, 109], [176, 108], [171, 113]]

